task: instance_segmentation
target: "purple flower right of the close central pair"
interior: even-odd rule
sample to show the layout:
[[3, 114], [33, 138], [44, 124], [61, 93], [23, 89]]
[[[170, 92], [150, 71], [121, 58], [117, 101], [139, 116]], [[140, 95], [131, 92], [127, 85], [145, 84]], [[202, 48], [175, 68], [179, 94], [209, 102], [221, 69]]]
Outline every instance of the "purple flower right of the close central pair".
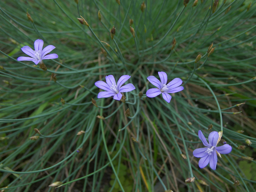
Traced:
[[147, 97], [156, 97], [162, 93], [164, 100], [170, 103], [172, 96], [168, 93], [176, 93], [182, 91], [184, 87], [180, 86], [182, 80], [175, 78], [171, 82], [167, 83], [167, 74], [163, 71], [158, 72], [161, 82], [155, 76], [148, 76], [148, 81], [157, 88], [148, 89], [146, 92]]

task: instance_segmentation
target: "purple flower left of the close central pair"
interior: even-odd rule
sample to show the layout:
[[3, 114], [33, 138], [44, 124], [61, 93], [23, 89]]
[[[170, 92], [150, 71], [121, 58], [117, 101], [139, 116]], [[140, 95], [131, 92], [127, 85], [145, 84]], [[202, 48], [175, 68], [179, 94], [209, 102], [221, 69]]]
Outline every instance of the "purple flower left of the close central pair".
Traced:
[[[114, 78], [113, 75], [107, 75], [106, 76], [106, 82], [104, 81], [97, 81], [94, 84], [105, 91], [101, 91], [98, 94], [98, 98], [103, 97], [110, 97], [114, 96], [113, 99], [119, 100], [122, 98], [123, 92], [129, 92], [135, 89], [134, 85], [132, 83], [128, 83], [127, 85], [122, 86], [128, 79], [130, 79], [130, 75], [123, 75], [120, 77], [120, 79], [117, 81]], [[122, 86], [122, 87], [121, 87]]]

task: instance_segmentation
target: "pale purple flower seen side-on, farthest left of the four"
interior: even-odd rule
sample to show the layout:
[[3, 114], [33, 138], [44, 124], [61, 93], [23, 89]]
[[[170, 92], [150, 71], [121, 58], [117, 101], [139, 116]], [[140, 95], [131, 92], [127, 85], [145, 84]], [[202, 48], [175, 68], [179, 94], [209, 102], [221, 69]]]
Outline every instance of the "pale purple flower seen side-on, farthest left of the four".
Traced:
[[[47, 53], [50, 53], [55, 47], [53, 45], [48, 45], [44, 47], [44, 41], [41, 39], [37, 39], [34, 42], [34, 48], [30, 48], [29, 46], [24, 46], [21, 48], [21, 50], [29, 55], [30, 57], [18, 57], [18, 61], [33, 61], [36, 65], [40, 62], [42, 62], [43, 59], [56, 59], [58, 58], [58, 55], [56, 53], [46, 55]], [[42, 50], [43, 49], [43, 50]]]

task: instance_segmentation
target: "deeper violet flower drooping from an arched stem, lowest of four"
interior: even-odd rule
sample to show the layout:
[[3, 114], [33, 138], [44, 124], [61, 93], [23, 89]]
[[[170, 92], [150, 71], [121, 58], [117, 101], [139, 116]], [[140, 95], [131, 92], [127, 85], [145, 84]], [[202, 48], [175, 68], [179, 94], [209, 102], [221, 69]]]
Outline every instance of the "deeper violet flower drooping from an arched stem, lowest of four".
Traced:
[[215, 170], [217, 165], [217, 153], [227, 154], [230, 153], [232, 147], [229, 144], [224, 144], [222, 146], [216, 147], [219, 142], [219, 133], [217, 131], [212, 131], [209, 134], [208, 141], [206, 141], [205, 136], [201, 130], [198, 131], [198, 137], [203, 142], [203, 145], [206, 147], [198, 148], [193, 151], [195, 157], [200, 157], [201, 159], [198, 162], [200, 168], [205, 167], [210, 163], [210, 167]]

